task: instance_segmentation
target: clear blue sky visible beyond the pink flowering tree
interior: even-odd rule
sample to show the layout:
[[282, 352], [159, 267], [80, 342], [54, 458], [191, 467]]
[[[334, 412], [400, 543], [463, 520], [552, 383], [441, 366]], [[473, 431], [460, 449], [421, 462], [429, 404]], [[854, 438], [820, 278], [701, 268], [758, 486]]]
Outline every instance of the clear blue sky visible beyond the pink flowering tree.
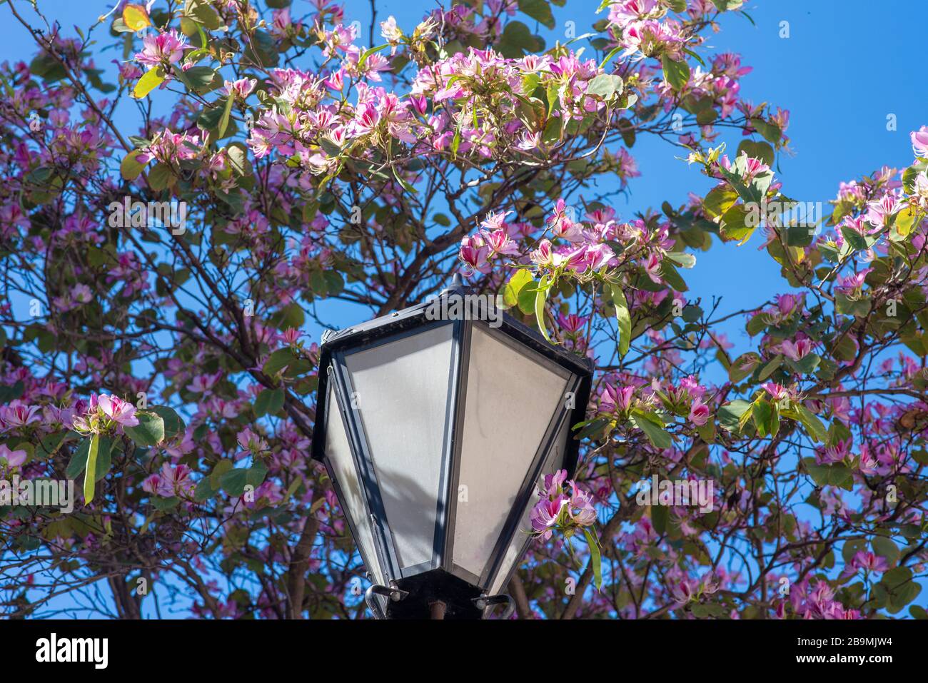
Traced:
[[[598, 4], [599, 0], [570, 0], [567, 6], [555, 8], [555, 32], [542, 31], [548, 44], [556, 33], [563, 33], [567, 21], [575, 22], [577, 33], [586, 32], [596, 19], [593, 12]], [[25, 16], [32, 16], [25, 3], [17, 5]], [[73, 35], [71, 26], [89, 26], [109, 11], [110, 0], [39, 0], [39, 5], [47, 17], [62, 24], [66, 34]], [[158, 5], [163, 6], [163, 0]], [[306, 6], [301, 0], [296, 5]], [[407, 30], [434, 6], [431, 0], [379, 0], [377, 5], [378, 20], [392, 14]], [[788, 135], [794, 154], [780, 155], [778, 173], [788, 196], [820, 201], [827, 207], [841, 181], [870, 174], [884, 164], [910, 163], [909, 131], [928, 123], [928, 90], [920, 68], [924, 22], [910, 19], [904, 11], [912, 5], [872, 0], [749, 2], [746, 8], [754, 23], [731, 15], [723, 19], [721, 32], [710, 35], [703, 52], [737, 52], [743, 65], [754, 68], [741, 81], [742, 97], [791, 111]], [[6, 6], [0, 6], [0, 18], [4, 22], [0, 61], [28, 62], [34, 52], [31, 37], [13, 21]], [[354, 19], [367, 35], [367, 0], [347, 0], [346, 23]], [[781, 37], [785, 28], [789, 37]], [[106, 44], [107, 36], [101, 33], [97, 37]], [[98, 58], [98, 65], [114, 57], [108, 52]], [[159, 100], [154, 101], [157, 110]], [[887, 130], [890, 115], [896, 118], [895, 131]], [[132, 103], [121, 107], [119, 121], [135, 129]], [[729, 147], [736, 147], [739, 139], [729, 137]], [[695, 167], [677, 159], [682, 155], [679, 148], [640, 137], [632, 153], [642, 175], [615, 206], [625, 218], [659, 208], [664, 200], [678, 205], [688, 192], [702, 193], [708, 187]], [[740, 248], [715, 244], [711, 251], [698, 254], [698, 264], [685, 274], [690, 298], [702, 296], [705, 308], [713, 295], [723, 296], [725, 312], [754, 307], [783, 291], [786, 285], [779, 266], [766, 251], [757, 251], [759, 244], [755, 236]], [[367, 317], [366, 311], [344, 306], [333, 314], [332, 322], [339, 326]], [[317, 341], [320, 330], [310, 327], [309, 331]], [[736, 353], [746, 350], [741, 321], [727, 331], [738, 344]]]

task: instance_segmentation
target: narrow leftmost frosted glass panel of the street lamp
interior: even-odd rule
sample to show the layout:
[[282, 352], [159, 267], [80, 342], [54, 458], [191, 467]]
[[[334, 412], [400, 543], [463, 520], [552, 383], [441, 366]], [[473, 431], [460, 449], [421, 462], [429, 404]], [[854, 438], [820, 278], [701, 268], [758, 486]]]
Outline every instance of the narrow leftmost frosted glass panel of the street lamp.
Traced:
[[374, 583], [384, 584], [383, 573], [377, 564], [377, 553], [374, 551], [374, 536], [371, 531], [370, 520], [364, 508], [358, 475], [354, 470], [354, 461], [351, 457], [351, 446], [348, 435], [345, 433], [342, 412], [335, 401], [335, 393], [329, 384], [329, 398], [326, 401], [326, 457], [335, 475], [335, 481], [342, 489], [342, 505], [345, 512], [354, 523], [357, 543], [367, 571], [374, 578]]

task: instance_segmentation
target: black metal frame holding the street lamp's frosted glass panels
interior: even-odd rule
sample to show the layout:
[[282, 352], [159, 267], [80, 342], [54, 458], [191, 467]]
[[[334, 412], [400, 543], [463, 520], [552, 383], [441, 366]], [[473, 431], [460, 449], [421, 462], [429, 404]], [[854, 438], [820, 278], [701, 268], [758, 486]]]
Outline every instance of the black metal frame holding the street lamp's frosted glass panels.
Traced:
[[[465, 293], [466, 290], [458, 285], [443, 291], [439, 296], [449, 297]], [[362, 560], [368, 570], [373, 566], [372, 562], [376, 561], [386, 573], [389, 584], [389, 586], [371, 586], [367, 592], [367, 604], [379, 618], [429, 618], [430, 605], [441, 602], [446, 606], [443, 610], [444, 618], [474, 619], [481, 618], [489, 605], [503, 601], [502, 598], [487, 595], [488, 589], [494, 585], [506, 550], [514, 535], [518, 533], [523, 510], [534, 494], [535, 483], [542, 474], [541, 468], [546, 456], [555, 446], [559, 433], [563, 433], [564, 421], [569, 420], [570, 426], [573, 426], [585, 419], [586, 403], [589, 399], [593, 371], [589, 359], [580, 358], [559, 346], [548, 343], [534, 329], [522, 325], [508, 314], [501, 316], [501, 325], [496, 329], [491, 328], [485, 321], [489, 316], [477, 316], [483, 319], [429, 320], [426, 311], [432, 304], [432, 302], [420, 303], [390, 316], [383, 316], [348, 329], [329, 330], [323, 335], [320, 349], [313, 457], [326, 465], [336, 495], [342, 502], [342, 510], [348, 520], [352, 535], [358, 538], [357, 521], [352, 519], [351, 512], [344, 504], [342, 483], [336, 480], [329, 458], [325, 455], [327, 413], [329, 410], [341, 410], [342, 421], [351, 446], [354, 470], [360, 475], [364, 494], [361, 497], [364, 499], [365, 512], [370, 521], [377, 553], [377, 558], [368, 558], [364, 557], [362, 552]], [[380, 344], [394, 342], [406, 336], [444, 325], [454, 326], [452, 329], [453, 354], [445, 409], [445, 447], [442, 453], [441, 493], [436, 501], [437, 514], [432, 560], [413, 566], [402, 566], [380, 496], [380, 483], [374, 469], [367, 435], [358, 409], [353, 407], [351, 401], [348, 400], [353, 395], [353, 387], [345, 358]], [[516, 501], [509, 511], [503, 532], [496, 540], [490, 560], [479, 576], [452, 562], [456, 522], [455, 505], [452, 501], [453, 493], [458, 491], [461, 446], [459, 430], [463, 424], [463, 411], [466, 406], [470, 335], [475, 326], [482, 326], [498, 341], [509, 344], [511, 348], [521, 353], [526, 353], [525, 349], [530, 350], [529, 354], [536, 361], [541, 361], [552, 368], [562, 368], [561, 372], [563, 370], [570, 372], [565, 391], [574, 393], [574, 407], [569, 408], [562, 404], [561, 409], [550, 420], [545, 437], [535, 453], [532, 467], [522, 481]], [[333, 389], [331, 394], [329, 385]], [[329, 405], [329, 395], [336, 398], [336, 405]], [[578, 449], [579, 442], [568, 435], [568, 445], [561, 467], [570, 475], [573, 475], [576, 467]], [[529, 539], [526, 538], [519, 553], [520, 558], [528, 543]], [[506, 585], [517, 565], [518, 561], [500, 585]]]

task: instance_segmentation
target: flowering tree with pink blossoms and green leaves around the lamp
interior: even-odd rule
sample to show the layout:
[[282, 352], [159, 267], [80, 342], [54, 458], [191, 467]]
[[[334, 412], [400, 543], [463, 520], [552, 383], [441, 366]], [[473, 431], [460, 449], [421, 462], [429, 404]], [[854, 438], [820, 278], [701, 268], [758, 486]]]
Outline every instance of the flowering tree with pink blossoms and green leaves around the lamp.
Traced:
[[[5, 613], [70, 593], [126, 618], [363, 616], [308, 457], [303, 327], [460, 270], [596, 361], [574, 481], [539, 482], [519, 616], [928, 616], [928, 129], [901, 174], [797, 220], [772, 171], [788, 112], [704, 47], [741, 0], [606, 0], [547, 45], [563, 4], [413, 28], [376, 3], [361, 27], [328, 0], [151, 0], [67, 35], [6, 3], [37, 53], [0, 69], [0, 473], [79, 495], [0, 497]], [[619, 220], [639, 135], [715, 187]], [[749, 240], [783, 293], [688, 301], [697, 252]], [[694, 506], [642, 480], [712, 485]]]

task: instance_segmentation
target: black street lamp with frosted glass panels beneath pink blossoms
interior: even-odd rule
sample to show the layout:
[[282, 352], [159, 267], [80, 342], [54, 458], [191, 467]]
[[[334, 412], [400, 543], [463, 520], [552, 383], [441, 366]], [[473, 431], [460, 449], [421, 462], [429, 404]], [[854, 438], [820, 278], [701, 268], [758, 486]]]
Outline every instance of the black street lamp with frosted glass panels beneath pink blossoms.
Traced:
[[573, 473], [592, 366], [456, 284], [322, 338], [325, 463], [378, 618], [481, 618], [529, 543], [535, 484]]

